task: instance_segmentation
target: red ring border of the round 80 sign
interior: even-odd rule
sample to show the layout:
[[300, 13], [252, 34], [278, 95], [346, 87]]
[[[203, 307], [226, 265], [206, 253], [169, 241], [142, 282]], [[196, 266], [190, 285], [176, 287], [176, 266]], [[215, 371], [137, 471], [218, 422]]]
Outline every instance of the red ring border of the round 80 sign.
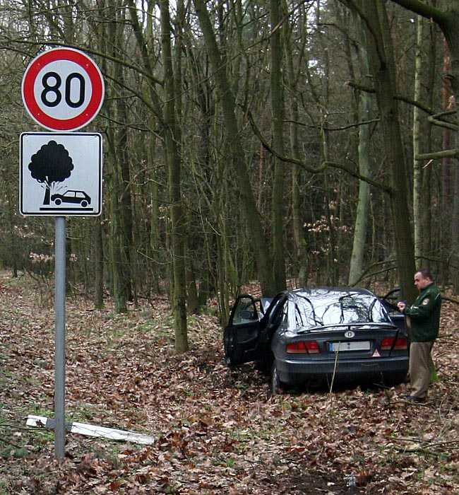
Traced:
[[[70, 62], [75, 62], [81, 66], [88, 74], [93, 86], [90, 102], [83, 112], [71, 119], [56, 119], [50, 117], [43, 113], [35, 100], [33, 87], [37, 74], [44, 66], [51, 62], [56, 62], [56, 60], [69, 60]], [[54, 48], [53, 50], [37, 55], [37, 57], [30, 62], [30, 65], [25, 70], [23, 76], [22, 91], [25, 107], [30, 116], [38, 122], [38, 124], [47, 129], [56, 131], [74, 131], [76, 129], [81, 129], [81, 127], [88, 124], [97, 115], [102, 106], [105, 88], [99, 68], [88, 55], [73, 48]]]

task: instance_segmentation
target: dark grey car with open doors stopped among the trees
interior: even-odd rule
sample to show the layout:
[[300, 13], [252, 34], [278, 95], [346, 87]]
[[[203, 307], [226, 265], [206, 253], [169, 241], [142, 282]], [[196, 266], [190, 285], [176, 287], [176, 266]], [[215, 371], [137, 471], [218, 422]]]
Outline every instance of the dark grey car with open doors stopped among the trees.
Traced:
[[229, 366], [259, 361], [273, 393], [282, 385], [403, 382], [407, 335], [364, 289], [284, 291], [272, 300], [239, 296], [224, 332]]

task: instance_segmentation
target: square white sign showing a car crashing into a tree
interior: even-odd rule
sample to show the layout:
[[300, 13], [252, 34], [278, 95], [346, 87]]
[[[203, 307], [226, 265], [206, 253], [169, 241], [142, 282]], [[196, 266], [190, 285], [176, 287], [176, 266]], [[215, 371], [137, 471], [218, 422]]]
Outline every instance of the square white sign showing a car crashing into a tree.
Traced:
[[19, 153], [21, 214], [100, 215], [101, 134], [24, 132]]

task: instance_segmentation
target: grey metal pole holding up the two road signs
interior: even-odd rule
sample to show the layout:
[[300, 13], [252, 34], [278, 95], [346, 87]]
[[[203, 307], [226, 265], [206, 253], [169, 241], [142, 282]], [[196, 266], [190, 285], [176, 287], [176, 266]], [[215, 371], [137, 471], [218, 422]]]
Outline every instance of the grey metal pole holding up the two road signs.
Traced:
[[66, 217], [56, 216], [54, 244], [54, 458], [65, 455]]

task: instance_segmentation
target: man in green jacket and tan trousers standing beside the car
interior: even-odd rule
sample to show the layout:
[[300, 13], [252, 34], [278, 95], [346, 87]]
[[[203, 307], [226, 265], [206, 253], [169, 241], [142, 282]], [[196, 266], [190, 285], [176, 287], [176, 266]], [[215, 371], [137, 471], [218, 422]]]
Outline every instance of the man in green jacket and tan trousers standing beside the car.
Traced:
[[419, 269], [415, 273], [419, 296], [412, 306], [398, 303], [398, 309], [410, 318], [410, 383], [408, 402], [424, 402], [429, 388], [429, 361], [434, 340], [439, 334], [441, 294], [431, 273]]

